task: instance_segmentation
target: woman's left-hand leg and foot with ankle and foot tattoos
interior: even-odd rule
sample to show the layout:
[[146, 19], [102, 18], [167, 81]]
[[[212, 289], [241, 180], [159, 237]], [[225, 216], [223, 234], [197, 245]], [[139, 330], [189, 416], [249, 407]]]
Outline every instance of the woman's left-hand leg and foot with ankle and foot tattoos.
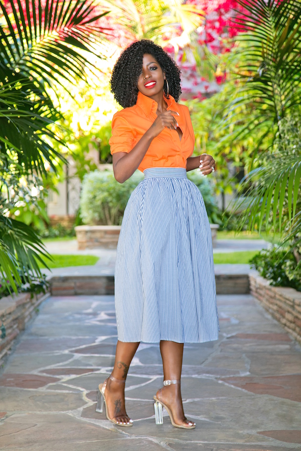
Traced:
[[[127, 371], [139, 343], [123, 343], [117, 341], [115, 363], [111, 376], [119, 381], [125, 381]], [[116, 382], [108, 378], [105, 387], [105, 399], [108, 415], [117, 422], [128, 423], [130, 418], [125, 411], [124, 383]]]

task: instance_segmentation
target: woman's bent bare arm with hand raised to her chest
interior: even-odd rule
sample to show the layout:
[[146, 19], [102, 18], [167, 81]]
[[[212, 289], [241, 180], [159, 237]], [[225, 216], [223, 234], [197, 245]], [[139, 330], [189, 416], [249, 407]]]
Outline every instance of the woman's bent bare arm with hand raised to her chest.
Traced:
[[150, 143], [165, 127], [171, 130], [177, 128], [177, 121], [173, 114], [178, 115], [177, 112], [171, 110], [161, 113], [129, 153], [117, 152], [113, 154], [114, 177], [119, 183], [123, 183], [135, 172]]

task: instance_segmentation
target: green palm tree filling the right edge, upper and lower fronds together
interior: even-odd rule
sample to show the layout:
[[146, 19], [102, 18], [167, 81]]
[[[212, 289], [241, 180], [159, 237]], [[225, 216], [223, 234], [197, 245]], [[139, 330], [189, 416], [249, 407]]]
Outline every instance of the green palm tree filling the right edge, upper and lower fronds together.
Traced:
[[[238, 79], [241, 88], [229, 104], [225, 124], [235, 126], [232, 139], [257, 134], [251, 171], [242, 183], [246, 196], [240, 227], [274, 225], [283, 241], [300, 243], [301, 176], [301, 5], [298, 0], [238, 0], [245, 13], [236, 20], [242, 31]], [[244, 110], [246, 120], [237, 120]], [[240, 114], [241, 117], [241, 114]], [[261, 144], [270, 136], [270, 146]], [[299, 255], [296, 256], [296, 260]]]

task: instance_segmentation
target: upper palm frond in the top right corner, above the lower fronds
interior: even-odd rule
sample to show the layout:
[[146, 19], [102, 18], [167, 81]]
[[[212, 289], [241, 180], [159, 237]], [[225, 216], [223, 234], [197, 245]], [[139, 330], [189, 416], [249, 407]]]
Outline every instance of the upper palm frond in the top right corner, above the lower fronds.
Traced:
[[[231, 124], [236, 110], [246, 107], [250, 126], [252, 122], [259, 130], [265, 121], [277, 131], [278, 121], [301, 104], [301, 4], [298, 0], [238, 3], [245, 11], [234, 19], [242, 32], [237, 37], [241, 63], [236, 74], [242, 86], [229, 104], [224, 123]], [[262, 120], [253, 119], [254, 111]]]

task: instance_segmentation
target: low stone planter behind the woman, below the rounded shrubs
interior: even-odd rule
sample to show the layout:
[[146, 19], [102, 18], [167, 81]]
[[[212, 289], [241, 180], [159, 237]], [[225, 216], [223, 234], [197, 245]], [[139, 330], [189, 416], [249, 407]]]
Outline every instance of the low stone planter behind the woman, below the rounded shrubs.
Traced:
[[[75, 233], [78, 249], [116, 249], [120, 228], [120, 225], [77, 225]], [[210, 224], [213, 247], [216, 246], [218, 228], [218, 224]]]

